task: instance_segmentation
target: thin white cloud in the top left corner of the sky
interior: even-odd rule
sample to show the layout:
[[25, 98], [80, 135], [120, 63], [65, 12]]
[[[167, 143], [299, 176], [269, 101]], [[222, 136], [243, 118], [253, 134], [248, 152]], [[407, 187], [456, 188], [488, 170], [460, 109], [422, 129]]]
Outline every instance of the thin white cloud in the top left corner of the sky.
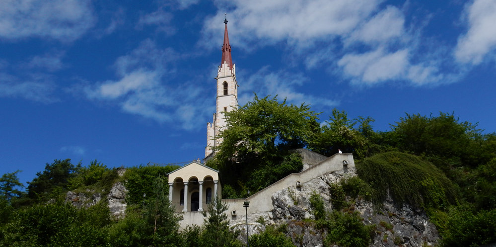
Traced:
[[2, 0], [0, 38], [79, 38], [95, 23], [90, 0]]

